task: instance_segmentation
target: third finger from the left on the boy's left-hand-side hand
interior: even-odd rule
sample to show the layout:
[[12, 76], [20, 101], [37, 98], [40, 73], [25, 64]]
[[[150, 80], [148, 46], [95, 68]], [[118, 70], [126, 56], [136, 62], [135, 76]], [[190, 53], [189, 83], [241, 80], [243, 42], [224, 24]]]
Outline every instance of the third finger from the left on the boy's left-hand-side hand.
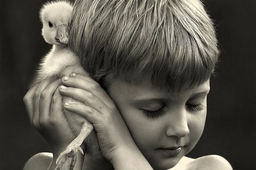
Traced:
[[47, 125], [49, 121], [49, 113], [51, 108], [51, 100], [54, 92], [62, 83], [61, 79], [56, 79], [41, 92], [39, 102], [39, 121], [41, 125]]

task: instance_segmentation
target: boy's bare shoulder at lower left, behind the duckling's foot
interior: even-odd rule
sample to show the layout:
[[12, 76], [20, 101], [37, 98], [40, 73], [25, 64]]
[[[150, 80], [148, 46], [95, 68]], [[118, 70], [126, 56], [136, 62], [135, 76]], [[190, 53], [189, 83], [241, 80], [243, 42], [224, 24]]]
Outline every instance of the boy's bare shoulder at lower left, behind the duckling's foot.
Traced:
[[52, 161], [52, 153], [42, 152], [32, 156], [25, 164], [23, 170], [45, 170]]

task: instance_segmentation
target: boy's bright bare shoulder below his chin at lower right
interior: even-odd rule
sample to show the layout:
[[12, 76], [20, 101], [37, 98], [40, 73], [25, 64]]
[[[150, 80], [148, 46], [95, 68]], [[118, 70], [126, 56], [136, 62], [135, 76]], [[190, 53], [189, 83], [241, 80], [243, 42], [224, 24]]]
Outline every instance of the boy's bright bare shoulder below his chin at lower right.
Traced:
[[208, 169], [208, 170], [232, 170], [230, 163], [219, 155], [208, 155], [194, 159], [188, 163], [192, 169]]

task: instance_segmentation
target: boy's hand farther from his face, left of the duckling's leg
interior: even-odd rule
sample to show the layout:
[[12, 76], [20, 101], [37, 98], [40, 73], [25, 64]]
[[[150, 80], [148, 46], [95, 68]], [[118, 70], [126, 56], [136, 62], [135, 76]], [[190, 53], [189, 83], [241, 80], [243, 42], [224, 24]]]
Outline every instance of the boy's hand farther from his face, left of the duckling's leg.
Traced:
[[58, 91], [61, 83], [61, 79], [42, 80], [23, 98], [31, 125], [50, 144], [53, 157], [75, 138], [63, 114], [62, 96]]

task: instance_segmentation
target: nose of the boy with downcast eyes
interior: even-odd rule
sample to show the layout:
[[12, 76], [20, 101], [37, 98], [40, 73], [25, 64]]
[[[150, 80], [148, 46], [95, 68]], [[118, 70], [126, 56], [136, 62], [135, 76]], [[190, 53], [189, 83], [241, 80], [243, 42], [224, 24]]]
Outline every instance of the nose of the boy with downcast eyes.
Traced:
[[180, 112], [173, 112], [170, 114], [168, 128], [166, 130], [167, 136], [184, 137], [190, 133], [188, 128], [188, 119], [186, 110]]

